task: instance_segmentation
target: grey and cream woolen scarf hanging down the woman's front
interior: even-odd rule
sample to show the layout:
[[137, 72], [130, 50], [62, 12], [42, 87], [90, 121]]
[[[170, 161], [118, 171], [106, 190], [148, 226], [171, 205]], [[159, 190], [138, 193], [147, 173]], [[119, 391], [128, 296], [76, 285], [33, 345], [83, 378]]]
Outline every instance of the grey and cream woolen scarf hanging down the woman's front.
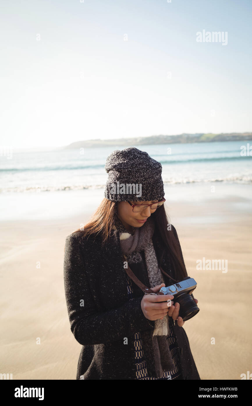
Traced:
[[[155, 229], [152, 216], [148, 217], [141, 227], [133, 227], [133, 233], [129, 233], [129, 231], [125, 229], [118, 217], [116, 217], [113, 228], [119, 230], [121, 249], [123, 254], [127, 257], [129, 264], [136, 263], [136, 255], [140, 255], [139, 252], [144, 251], [150, 283], [148, 287], [152, 288], [164, 283], [152, 242], [152, 235]], [[167, 335], [169, 335], [169, 333], [168, 315], [164, 316], [163, 320], [155, 320], [154, 329], [142, 331], [148, 373], [155, 378], [160, 378], [164, 371], [174, 371], [175, 369], [167, 341]]]

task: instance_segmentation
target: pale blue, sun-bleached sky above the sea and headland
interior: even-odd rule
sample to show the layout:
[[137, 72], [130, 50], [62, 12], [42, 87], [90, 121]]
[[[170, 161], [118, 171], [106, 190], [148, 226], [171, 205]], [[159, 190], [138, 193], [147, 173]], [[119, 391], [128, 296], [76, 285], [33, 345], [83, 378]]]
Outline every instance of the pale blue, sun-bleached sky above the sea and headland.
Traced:
[[2, 0], [0, 145], [251, 132], [251, 21], [249, 0]]

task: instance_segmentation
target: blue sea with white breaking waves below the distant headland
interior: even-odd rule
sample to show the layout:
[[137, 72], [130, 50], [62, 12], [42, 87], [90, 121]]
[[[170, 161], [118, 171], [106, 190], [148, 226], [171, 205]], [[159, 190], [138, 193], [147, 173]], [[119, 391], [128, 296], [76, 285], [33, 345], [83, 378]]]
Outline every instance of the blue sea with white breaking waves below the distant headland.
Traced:
[[[252, 185], [251, 155], [241, 155], [252, 141], [137, 145], [162, 165], [164, 184], [238, 182]], [[134, 145], [133, 145], [134, 146]], [[105, 163], [115, 149], [17, 152], [0, 157], [0, 193], [104, 188]]]

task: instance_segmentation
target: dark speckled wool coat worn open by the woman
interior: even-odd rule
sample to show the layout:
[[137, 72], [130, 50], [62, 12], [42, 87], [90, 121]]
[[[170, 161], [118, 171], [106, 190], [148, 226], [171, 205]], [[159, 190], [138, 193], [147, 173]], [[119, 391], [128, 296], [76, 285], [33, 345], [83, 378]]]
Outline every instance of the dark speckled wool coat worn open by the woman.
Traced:
[[[173, 226], [172, 230], [178, 239]], [[119, 231], [113, 233], [103, 248], [99, 234], [95, 239], [92, 236], [82, 238], [78, 231], [66, 238], [66, 304], [71, 331], [82, 345], [76, 379], [136, 379], [134, 334], [155, 326], [155, 321], [148, 320], [142, 312], [144, 294], [133, 281], [134, 298], [128, 298]], [[163, 243], [158, 242], [155, 247], [157, 258], [163, 248]], [[161, 266], [169, 273], [167, 250]], [[136, 276], [145, 283], [141, 274]], [[166, 275], [163, 274], [163, 278], [166, 286], [171, 284]], [[186, 332], [177, 321], [173, 328], [180, 348], [182, 379], [199, 380]]]

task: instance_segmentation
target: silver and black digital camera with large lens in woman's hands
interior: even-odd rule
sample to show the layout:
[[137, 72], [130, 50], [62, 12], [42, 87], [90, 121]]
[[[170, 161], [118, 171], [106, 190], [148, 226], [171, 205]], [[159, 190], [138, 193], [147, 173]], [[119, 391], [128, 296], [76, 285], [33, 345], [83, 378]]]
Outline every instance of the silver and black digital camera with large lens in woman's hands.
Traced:
[[199, 312], [199, 307], [193, 300], [191, 294], [196, 288], [197, 283], [195, 279], [187, 276], [178, 283], [170, 285], [167, 287], [161, 287], [158, 295], [173, 295], [173, 302], [178, 302], [180, 304], [180, 309], [178, 315], [182, 317], [183, 321], [191, 319], [195, 314]]

